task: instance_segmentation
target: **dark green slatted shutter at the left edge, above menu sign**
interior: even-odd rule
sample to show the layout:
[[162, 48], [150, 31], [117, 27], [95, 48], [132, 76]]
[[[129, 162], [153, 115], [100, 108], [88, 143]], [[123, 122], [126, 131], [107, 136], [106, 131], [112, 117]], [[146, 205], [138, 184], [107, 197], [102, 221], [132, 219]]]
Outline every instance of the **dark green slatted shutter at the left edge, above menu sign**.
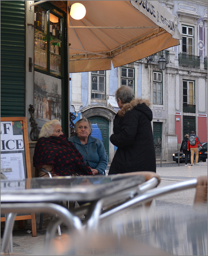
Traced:
[[1, 1], [1, 116], [25, 116], [24, 1]]

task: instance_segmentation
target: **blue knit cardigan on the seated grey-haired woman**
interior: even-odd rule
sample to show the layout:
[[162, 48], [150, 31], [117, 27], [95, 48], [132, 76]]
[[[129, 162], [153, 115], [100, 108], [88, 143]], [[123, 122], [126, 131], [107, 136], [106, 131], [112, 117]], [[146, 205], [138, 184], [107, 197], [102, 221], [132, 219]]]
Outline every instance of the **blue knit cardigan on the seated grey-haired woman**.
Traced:
[[90, 135], [88, 136], [87, 145], [83, 145], [77, 135], [69, 137], [68, 140], [83, 155], [85, 164], [103, 174], [108, 166], [108, 156], [101, 140]]

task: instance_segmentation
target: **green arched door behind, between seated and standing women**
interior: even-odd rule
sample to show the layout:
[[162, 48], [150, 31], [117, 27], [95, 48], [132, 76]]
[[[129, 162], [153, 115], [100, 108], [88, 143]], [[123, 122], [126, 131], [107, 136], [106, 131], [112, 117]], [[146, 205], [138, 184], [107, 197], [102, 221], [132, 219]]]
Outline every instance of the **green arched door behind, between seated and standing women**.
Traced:
[[92, 116], [88, 118], [92, 124], [97, 124], [101, 130], [103, 144], [109, 159], [109, 121], [102, 116]]

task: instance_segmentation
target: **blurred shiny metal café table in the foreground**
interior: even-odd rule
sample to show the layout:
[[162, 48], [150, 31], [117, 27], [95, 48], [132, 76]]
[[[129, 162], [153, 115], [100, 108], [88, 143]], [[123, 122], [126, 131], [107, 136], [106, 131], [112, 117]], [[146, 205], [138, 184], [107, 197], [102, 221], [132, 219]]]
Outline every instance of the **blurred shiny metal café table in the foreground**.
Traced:
[[[147, 172], [148, 173], [148, 172]], [[1, 180], [1, 212], [6, 214], [2, 252], [12, 252], [12, 230], [17, 213], [49, 212], [57, 218], [47, 228], [45, 243], [55, 236], [57, 226], [64, 222], [69, 229], [93, 229], [103, 207], [119, 205], [159, 184], [157, 177], [145, 181], [142, 175], [67, 176]], [[66, 209], [61, 201], [89, 202], [76, 209]], [[77, 217], [86, 214], [83, 226]]]

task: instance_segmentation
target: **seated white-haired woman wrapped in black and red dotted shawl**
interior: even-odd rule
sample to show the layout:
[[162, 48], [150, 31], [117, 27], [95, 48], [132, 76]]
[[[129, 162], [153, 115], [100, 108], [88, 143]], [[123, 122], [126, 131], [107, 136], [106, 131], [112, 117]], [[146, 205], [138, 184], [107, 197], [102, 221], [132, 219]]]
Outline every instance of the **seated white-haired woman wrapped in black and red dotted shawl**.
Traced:
[[[62, 133], [60, 122], [55, 119], [44, 124], [40, 131], [33, 166], [48, 170], [52, 176], [92, 175], [81, 153], [68, 141]], [[45, 173], [39, 171], [38, 176], [43, 177]]]

